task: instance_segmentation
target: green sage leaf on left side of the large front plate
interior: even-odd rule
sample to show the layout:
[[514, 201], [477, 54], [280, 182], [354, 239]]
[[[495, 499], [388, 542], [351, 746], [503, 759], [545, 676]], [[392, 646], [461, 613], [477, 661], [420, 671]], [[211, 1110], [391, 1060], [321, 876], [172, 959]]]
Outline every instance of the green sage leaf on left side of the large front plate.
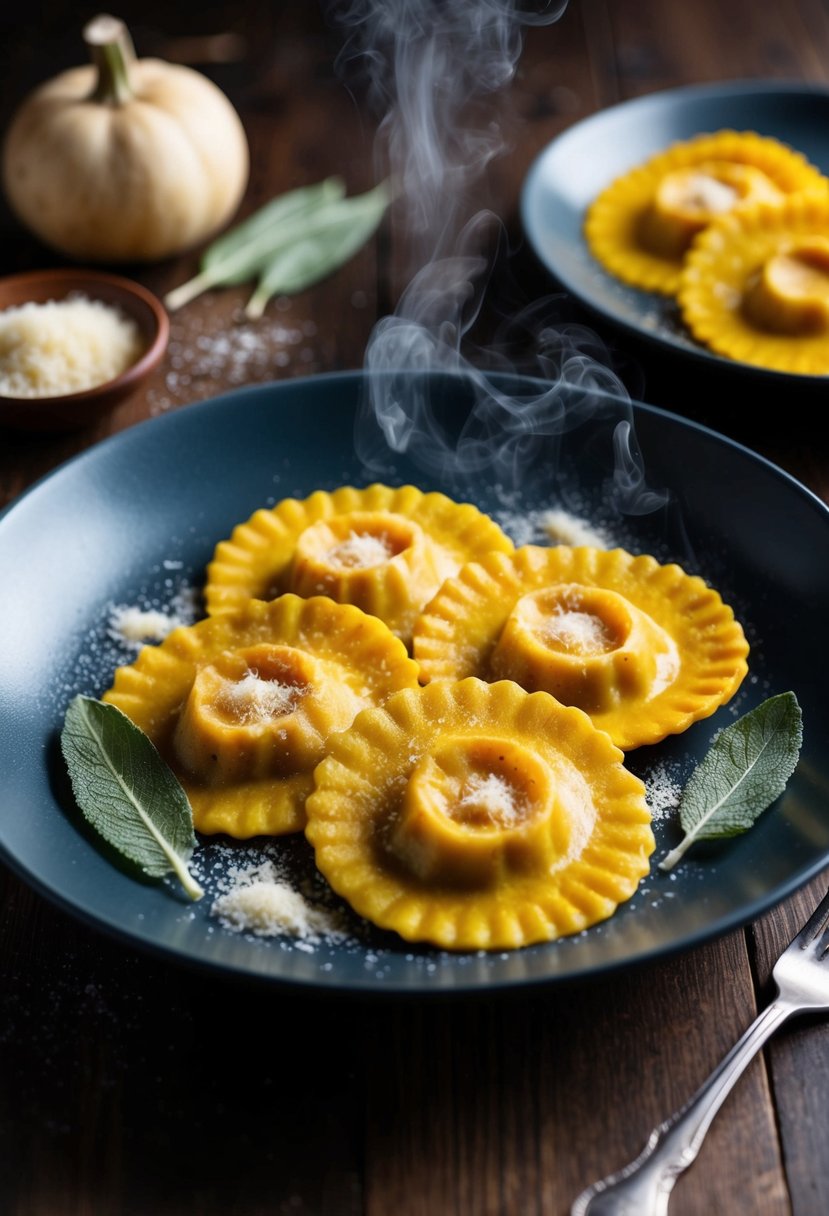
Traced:
[[126, 714], [92, 697], [69, 703], [61, 750], [89, 823], [152, 878], [175, 873], [191, 899], [204, 891], [187, 869], [193, 812], [175, 773]]

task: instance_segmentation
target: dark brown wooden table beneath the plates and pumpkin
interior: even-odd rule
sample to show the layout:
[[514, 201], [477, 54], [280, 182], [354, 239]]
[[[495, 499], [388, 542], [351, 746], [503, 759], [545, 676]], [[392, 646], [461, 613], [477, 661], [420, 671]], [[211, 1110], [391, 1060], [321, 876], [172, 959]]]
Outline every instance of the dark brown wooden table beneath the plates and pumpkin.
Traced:
[[[34, 84], [80, 62], [68, 4], [0, 19], [4, 124]], [[342, 173], [373, 178], [379, 117], [334, 71], [339, 28], [316, 6], [255, 0], [125, 2], [141, 55], [191, 62], [237, 105], [252, 147], [243, 210]], [[218, 43], [212, 35], [231, 32]], [[614, 102], [698, 81], [829, 81], [819, 0], [581, 0], [525, 30], [515, 79], [491, 98], [507, 151], [486, 199], [506, 224], [530, 298], [551, 291], [521, 247], [517, 206], [536, 153]], [[55, 264], [4, 213], [6, 272]], [[158, 292], [197, 252], [119, 268]], [[0, 439], [0, 491], [15, 499], [75, 452], [141, 420], [241, 382], [360, 367], [394, 308], [405, 261], [372, 242], [264, 327], [289, 328], [281, 361], [233, 348], [244, 288], [173, 317], [167, 360], [100, 426]], [[497, 289], [498, 283], [494, 289]], [[562, 302], [576, 319], [577, 306]], [[749, 441], [829, 501], [829, 456], [793, 406], [765, 423], [752, 401], [714, 417], [710, 394], [590, 320], [644, 400]], [[227, 336], [231, 339], [227, 340]], [[199, 336], [216, 355], [182, 373]], [[7, 576], [7, 572], [4, 576]], [[529, 997], [312, 1000], [222, 983], [134, 952], [79, 924], [0, 868], [0, 1207], [6, 1216], [564, 1216], [590, 1181], [632, 1158], [768, 998], [771, 964], [819, 895], [817, 879], [745, 930], [681, 957]], [[679, 1181], [676, 1216], [829, 1211], [829, 1025], [795, 1024], [756, 1060]]]

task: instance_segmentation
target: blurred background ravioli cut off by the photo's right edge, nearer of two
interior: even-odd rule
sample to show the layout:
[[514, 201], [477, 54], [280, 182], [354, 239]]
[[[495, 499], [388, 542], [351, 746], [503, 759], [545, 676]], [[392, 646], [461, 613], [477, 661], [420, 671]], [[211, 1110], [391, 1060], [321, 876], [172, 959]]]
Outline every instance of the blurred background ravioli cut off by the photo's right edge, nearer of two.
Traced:
[[802, 195], [712, 224], [677, 294], [694, 338], [728, 359], [829, 375], [829, 198]]

